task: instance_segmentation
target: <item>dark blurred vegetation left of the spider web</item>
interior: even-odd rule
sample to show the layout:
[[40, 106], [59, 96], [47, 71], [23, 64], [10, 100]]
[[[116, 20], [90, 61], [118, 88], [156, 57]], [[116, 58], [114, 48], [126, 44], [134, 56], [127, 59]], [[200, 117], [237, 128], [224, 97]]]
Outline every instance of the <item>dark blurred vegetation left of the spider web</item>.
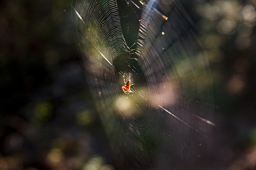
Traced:
[[1, 170], [113, 169], [80, 68], [70, 4], [1, 2]]

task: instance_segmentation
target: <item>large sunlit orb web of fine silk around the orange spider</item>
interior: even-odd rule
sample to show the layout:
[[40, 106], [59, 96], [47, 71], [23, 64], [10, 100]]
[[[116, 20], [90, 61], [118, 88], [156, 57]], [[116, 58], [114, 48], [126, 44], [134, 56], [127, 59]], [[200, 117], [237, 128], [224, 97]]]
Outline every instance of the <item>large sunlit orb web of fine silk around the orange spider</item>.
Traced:
[[[134, 44], [118, 11], [128, 7], [136, 14]], [[73, 9], [86, 79], [119, 168], [209, 169], [209, 66], [180, 3], [77, 0]], [[135, 83], [130, 94], [123, 75]]]

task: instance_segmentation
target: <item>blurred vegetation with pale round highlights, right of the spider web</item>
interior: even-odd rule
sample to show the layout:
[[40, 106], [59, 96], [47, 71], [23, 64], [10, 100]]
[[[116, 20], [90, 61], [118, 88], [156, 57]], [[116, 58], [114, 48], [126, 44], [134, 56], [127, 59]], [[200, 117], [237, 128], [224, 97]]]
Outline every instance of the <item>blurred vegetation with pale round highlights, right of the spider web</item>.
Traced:
[[197, 0], [190, 14], [213, 77], [216, 169], [256, 168], [256, 1]]

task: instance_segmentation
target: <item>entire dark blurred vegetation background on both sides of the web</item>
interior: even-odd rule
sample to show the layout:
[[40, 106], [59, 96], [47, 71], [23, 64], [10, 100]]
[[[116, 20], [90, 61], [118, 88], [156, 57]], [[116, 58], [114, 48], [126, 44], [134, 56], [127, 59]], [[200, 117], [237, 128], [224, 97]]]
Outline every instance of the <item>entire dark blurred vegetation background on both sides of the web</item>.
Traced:
[[[114, 169], [80, 68], [70, 4], [1, 2], [0, 169]], [[213, 76], [212, 165], [253, 169], [256, 1], [182, 4], [196, 23]]]

